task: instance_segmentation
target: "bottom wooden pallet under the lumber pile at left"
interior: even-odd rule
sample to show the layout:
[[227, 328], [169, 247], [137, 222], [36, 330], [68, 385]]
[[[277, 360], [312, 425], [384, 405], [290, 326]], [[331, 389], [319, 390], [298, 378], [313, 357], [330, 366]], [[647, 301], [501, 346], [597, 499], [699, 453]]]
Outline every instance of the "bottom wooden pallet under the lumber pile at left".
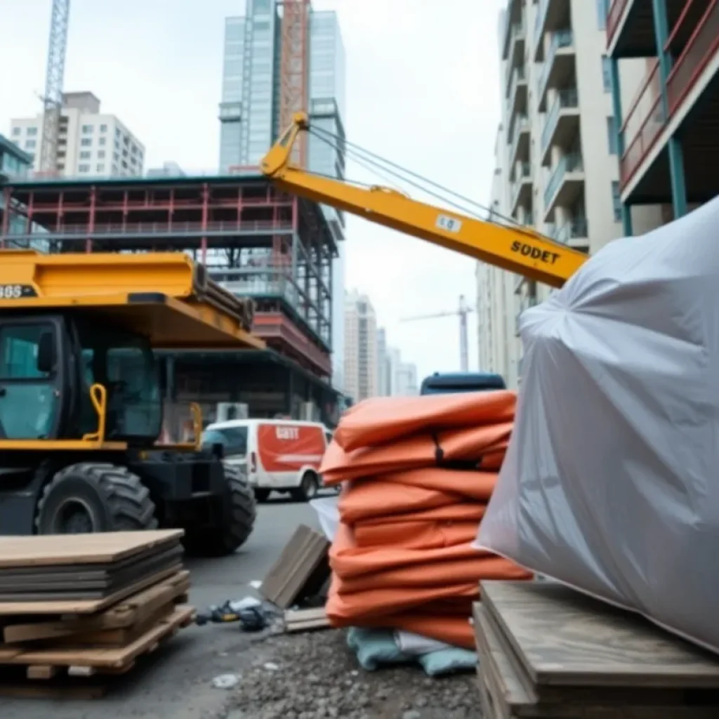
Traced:
[[[0, 649], [0, 696], [55, 696], [75, 693], [94, 697], [106, 690], [104, 682], [96, 679], [127, 674], [137, 659], [151, 654], [162, 641], [174, 636], [180, 628], [193, 623], [196, 610], [181, 605], [167, 615], [143, 627], [142, 633], [124, 646], [76, 646], [42, 647], [27, 649], [24, 647]], [[27, 682], [18, 684], [8, 679], [17, 677], [18, 669], [24, 678], [38, 683], [32, 687]], [[88, 684], [78, 683], [78, 677], [95, 679]], [[43, 693], [45, 692], [45, 693]]]

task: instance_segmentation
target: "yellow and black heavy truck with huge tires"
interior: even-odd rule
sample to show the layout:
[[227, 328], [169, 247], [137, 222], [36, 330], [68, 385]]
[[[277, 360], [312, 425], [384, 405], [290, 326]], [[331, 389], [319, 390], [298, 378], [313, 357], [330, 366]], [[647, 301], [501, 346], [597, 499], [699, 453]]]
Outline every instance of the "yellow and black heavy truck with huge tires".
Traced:
[[0, 534], [162, 526], [202, 554], [242, 545], [255, 498], [199, 445], [199, 408], [193, 443], [158, 444], [153, 350], [264, 347], [248, 324], [181, 253], [0, 250]]

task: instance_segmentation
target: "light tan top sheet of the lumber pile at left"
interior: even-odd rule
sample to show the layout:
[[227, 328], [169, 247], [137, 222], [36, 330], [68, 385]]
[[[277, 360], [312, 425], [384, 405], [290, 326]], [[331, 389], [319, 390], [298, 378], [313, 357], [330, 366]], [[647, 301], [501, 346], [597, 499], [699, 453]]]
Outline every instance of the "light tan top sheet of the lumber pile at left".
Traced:
[[116, 562], [183, 536], [182, 529], [63, 534], [62, 541], [52, 534], [0, 536], [0, 568]]

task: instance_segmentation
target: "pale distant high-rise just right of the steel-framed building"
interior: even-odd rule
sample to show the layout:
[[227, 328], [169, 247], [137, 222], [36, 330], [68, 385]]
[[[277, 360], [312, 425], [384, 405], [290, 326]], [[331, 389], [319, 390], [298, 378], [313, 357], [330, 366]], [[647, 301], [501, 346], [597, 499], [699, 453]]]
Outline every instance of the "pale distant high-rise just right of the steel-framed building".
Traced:
[[344, 393], [354, 402], [377, 391], [377, 315], [367, 295], [352, 290], [344, 301]]

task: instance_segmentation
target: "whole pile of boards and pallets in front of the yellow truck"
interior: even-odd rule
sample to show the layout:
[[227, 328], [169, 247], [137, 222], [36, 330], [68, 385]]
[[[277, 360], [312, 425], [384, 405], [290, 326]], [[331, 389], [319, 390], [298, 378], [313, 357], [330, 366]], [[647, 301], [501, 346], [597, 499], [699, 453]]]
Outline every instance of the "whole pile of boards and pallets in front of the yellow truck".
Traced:
[[[73, 677], [125, 674], [192, 623], [182, 536], [0, 537], [0, 695], [51, 696], [77, 691]], [[83, 696], [104, 689], [79, 686]]]

